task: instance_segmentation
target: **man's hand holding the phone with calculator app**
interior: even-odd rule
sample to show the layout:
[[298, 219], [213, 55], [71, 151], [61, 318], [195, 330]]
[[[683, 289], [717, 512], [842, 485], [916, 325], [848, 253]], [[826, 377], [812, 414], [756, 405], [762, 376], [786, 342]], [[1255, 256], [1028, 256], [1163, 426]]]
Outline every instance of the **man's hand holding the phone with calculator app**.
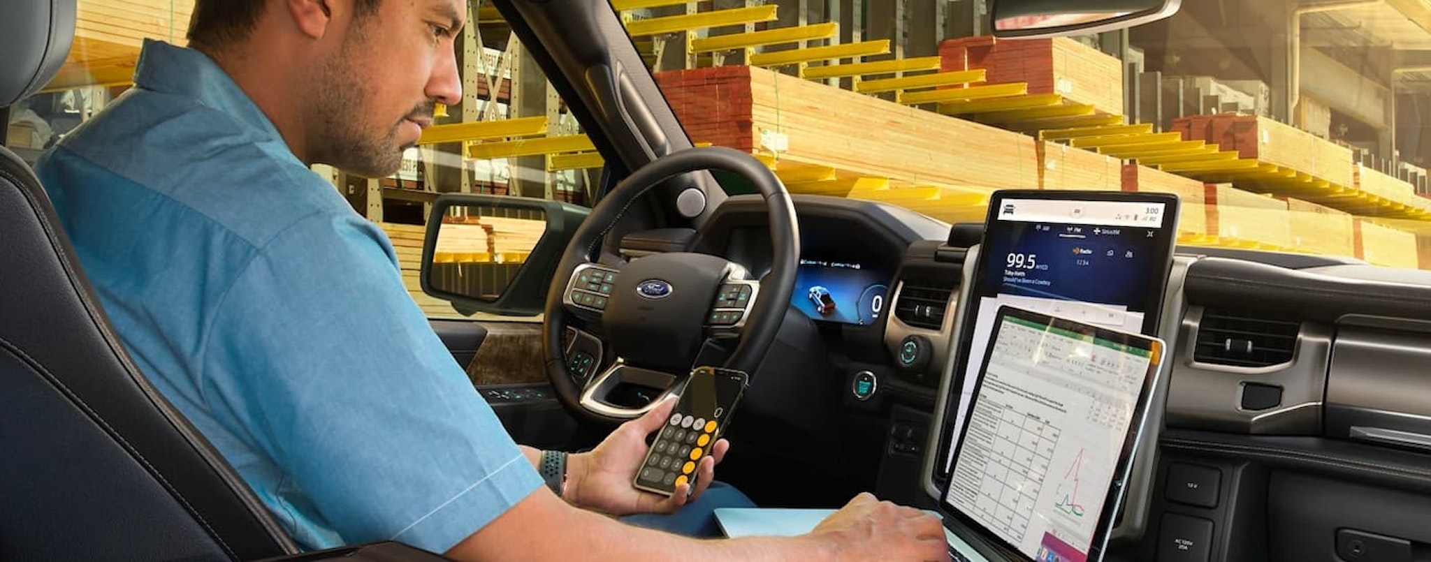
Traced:
[[[675, 399], [661, 400], [644, 416], [622, 423], [590, 453], [567, 458], [567, 501], [577, 506], [611, 515], [674, 513], [680, 506], [701, 496], [716, 479], [716, 465], [726, 458], [730, 443], [720, 439], [711, 453], [695, 468], [695, 489], [683, 483], [665, 498], [635, 489], [631, 480], [645, 460], [645, 436], [665, 426], [675, 408]], [[690, 493], [687, 493], [690, 490]]]

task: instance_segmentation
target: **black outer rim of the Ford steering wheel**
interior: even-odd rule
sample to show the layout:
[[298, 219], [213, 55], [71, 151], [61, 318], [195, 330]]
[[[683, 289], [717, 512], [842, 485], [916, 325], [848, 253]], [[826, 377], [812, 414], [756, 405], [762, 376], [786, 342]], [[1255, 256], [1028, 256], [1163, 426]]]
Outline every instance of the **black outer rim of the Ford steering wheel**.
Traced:
[[[578, 386], [570, 375], [565, 358], [564, 335], [567, 332], [571, 312], [567, 307], [567, 282], [572, 279], [577, 269], [591, 263], [605, 235], [611, 232], [617, 220], [643, 194], [674, 176], [697, 170], [724, 170], [747, 179], [766, 200], [770, 220], [771, 267], [770, 273], [760, 282], [760, 290], [750, 305], [750, 315], [744, 320], [740, 332], [740, 343], [730, 355], [724, 366], [730, 369], [753, 373], [764, 360], [770, 350], [790, 297], [794, 293], [796, 270], [800, 260], [800, 232], [796, 220], [794, 203], [786, 192], [784, 184], [766, 167], [747, 153], [727, 147], [693, 147], [663, 156], [621, 180], [587, 216], [572, 235], [567, 250], [562, 253], [557, 267], [557, 275], [547, 293], [545, 316], [542, 322], [542, 355], [547, 375], [561, 405], [578, 420], [592, 423], [620, 423], [643, 413], [643, 409], [630, 409], [620, 416], [594, 412], [581, 402], [584, 388]], [[634, 263], [635, 260], [633, 260]], [[600, 358], [597, 363], [600, 365]], [[685, 373], [673, 373], [677, 382], [667, 388], [670, 393]], [[663, 396], [651, 402], [654, 405]]]

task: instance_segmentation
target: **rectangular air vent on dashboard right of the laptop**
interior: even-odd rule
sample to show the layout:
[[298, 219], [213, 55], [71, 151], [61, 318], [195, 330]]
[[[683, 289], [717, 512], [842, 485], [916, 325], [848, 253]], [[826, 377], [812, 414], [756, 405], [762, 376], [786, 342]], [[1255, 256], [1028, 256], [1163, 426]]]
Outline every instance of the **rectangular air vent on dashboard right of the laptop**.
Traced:
[[1292, 360], [1301, 329], [1302, 323], [1296, 320], [1203, 310], [1192, 359], [1238, 368], [1286, 363]]

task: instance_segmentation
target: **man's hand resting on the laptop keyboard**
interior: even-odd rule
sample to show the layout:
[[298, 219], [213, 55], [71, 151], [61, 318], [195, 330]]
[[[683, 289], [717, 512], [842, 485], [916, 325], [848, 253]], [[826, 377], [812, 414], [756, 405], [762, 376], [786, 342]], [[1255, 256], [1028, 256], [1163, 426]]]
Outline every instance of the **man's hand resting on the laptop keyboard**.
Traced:
[[944, 526], [933, 515], [860, 493], [807, 535], [831, 561], [946, 561]]

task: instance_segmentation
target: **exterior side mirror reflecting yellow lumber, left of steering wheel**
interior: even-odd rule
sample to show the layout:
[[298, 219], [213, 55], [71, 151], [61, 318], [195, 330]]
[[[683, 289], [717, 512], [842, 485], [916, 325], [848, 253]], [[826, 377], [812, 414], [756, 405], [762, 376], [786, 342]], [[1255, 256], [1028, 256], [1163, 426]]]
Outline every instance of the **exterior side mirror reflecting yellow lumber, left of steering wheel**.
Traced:
[[535, 316], [577, 226], [575, 204], [449, 193], [432, 203], [422, 243], [422, 292], [462, 315]]

